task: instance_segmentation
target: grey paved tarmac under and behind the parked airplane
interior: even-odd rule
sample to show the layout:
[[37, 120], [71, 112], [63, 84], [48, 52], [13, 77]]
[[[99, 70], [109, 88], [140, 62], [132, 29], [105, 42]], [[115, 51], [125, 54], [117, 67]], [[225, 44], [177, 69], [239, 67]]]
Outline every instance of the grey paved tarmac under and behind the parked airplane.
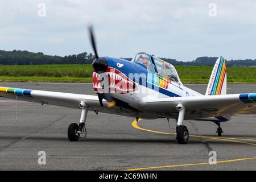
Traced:
[[[94, 94], [92, 84], [1, 82], [0, 85]], [[207, 85], [188, 87], [204, 93]], [[228, 85], [228, 93], [246, 92], [256, 92], [256, 85]], [[87, 138], [69, 142], [68, 126], [79, 123], [80, 110], [23, 101], [18, 101], [17, 108], [18, 121], [16, 101], [0, 99], [0, 169], [3, 170], [256, 169], [256, 115], [237, 115], [223, 123], [222, 138], [217, 137], [217, 125], [212, 122], [185, 121], [190, 135], [214, 138], [191, 137], [188, 144], [177, 144], [173, 135], [163, 134], [175, 133], [174, 121], [170, 121], [171, 129], [166, 119], [142, 120], [132, 126], [134, 118], [89, 112]], [[217, 152], [220, 162], [216, 165], [207, 163], [208, 152], [212, 150]], [[39, 151], [46, 152], [46, 165], [38, 164]]]

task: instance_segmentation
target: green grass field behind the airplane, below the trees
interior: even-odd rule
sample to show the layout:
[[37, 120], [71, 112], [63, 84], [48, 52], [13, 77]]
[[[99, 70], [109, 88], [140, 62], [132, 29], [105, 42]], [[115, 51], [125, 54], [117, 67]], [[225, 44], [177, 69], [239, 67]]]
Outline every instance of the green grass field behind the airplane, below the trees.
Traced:
[[[213, 67], [176, 66], [183, 83], [207, 84]], [[92, 65], [0, 65], [0, 81], [92, 82]], [[228, 83], [256, 84], [256, 68], [228, 67]]]

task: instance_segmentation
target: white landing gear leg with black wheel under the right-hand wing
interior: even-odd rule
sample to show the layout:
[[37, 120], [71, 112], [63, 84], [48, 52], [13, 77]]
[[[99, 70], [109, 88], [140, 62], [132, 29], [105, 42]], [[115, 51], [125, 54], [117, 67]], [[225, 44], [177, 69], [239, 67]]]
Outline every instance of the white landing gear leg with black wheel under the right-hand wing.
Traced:
[[178, 104], [176, 106], [176, 109], [179, 111], [179, 118], [177, 119], [175, 137], [178, 143], [185, 144], [188, 142], [188, 138], [189, 138], [187, 127], [182, 125], [184, 121], [184, 116], [185, 116], [185, 107], [182, 104]]

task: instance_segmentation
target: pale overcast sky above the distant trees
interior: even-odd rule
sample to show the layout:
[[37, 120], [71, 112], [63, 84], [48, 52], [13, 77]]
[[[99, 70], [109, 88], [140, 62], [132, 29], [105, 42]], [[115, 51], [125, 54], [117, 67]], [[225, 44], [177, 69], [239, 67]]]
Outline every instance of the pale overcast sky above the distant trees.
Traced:
[[254, 0], [1, 0], [0, 49], [192, 61], [200, 56], [256, 59]]

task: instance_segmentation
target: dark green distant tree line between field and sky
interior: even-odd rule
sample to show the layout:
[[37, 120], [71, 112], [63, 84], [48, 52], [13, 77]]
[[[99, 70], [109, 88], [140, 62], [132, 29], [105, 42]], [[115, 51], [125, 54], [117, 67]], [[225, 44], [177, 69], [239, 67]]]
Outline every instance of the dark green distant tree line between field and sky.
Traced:
[[[42, 52], [34, 53], [28, 51], [1, 51], [1, 65], [42, 65], [42, 64], [92, 64], [95, 56], [92, 53], [83, 52], [78, 55], [49, 56]], [[131, 58], [124, 58], [131, 60]], [[218, 57], [197, 57], [197, 59], [184, 62], [176, 59], [162, 58], [173, 65], [214, 65]], [[256, 67], [256, 60], [229, 60], [226, 65], [230, 67]]]

